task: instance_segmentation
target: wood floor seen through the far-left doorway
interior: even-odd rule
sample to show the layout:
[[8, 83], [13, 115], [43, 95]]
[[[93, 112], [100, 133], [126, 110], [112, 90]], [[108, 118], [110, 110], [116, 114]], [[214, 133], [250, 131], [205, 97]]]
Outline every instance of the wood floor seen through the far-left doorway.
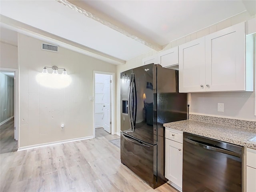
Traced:
[[18, 141], [14, 140], [14, 118], [0, 126], [0, 153], [14, 152]]

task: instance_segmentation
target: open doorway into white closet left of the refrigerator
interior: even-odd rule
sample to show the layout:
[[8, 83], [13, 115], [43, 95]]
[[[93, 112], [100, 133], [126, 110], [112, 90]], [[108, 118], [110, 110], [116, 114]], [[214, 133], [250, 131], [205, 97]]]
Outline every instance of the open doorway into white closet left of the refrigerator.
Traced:
[[94, 71], [94, 138], [114, 134], [113, 76]]

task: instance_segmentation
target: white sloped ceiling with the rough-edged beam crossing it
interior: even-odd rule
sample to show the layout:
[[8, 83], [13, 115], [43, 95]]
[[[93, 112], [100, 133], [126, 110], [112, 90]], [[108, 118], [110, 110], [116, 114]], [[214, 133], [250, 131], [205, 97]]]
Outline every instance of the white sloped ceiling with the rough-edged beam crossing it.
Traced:
[[[252, 7], [251, 2], [255, 3], [241, 0], [1, 0], [0, 13], [92, 52], [104, 53], [104, 57], [111, 58], [109, 62], [113, 60], [116, 64], [114, 58], [126, 61], [152, 48], [158, 51], [172, 40], [246, 11], [246, 7]], [[254, 10], [250, 12], [255, 14]]]

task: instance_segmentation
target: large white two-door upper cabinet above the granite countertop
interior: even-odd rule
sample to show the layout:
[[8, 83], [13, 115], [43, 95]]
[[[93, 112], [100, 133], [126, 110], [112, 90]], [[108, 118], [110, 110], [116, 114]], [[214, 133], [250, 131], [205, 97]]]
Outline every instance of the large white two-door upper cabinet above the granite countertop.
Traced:
[[245, 41], [242, 22], [179, 46], [180, 92], [253, 91]]

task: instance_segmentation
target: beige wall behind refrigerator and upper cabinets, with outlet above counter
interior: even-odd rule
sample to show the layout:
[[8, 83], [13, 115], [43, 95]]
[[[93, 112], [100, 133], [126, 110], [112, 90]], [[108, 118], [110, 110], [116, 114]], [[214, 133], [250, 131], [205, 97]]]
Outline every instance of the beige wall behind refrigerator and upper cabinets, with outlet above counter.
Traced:
[[[255, 17], [255, 15], [250, 16], [248, 12], [243, 12], [232, 18], [226, 19], [222, 22], [174, 40], [169, 44], [166, 44], [164, 46], [164, 50], [179, 46], [186, 42], [190, 42], [194, 39], [206, 36], [210, 33], [222, 30]], [[154, 50], [146, 52], [145, 54], [128, 60], [125, 65], [118, 65], [117, 67], [117, 132], [120, 132], [120, 72], [142, 66], [143, 58], [152, 56], [156, 53], [157, 52]], [[224, 113], [217, 112], [218, 102], [224, 103]], [[206, 114], [210, 116], [223, 116], [228, 118], [256, 121], [256, 118], [254, 117], [254, 92], [194, 93], [191, 94], [190, 112], [194, 114]]]

